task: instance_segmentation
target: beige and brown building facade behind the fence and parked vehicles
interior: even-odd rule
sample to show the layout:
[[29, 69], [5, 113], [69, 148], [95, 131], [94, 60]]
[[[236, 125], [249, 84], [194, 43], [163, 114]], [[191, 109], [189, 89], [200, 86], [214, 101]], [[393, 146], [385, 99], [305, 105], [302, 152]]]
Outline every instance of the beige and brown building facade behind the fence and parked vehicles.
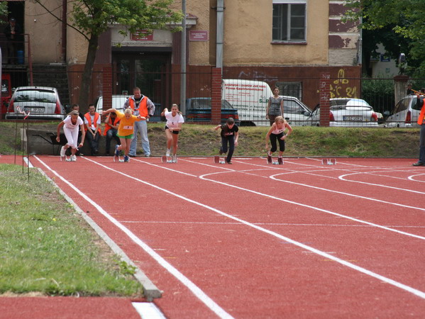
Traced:
[[[223, 2], [223, 11], [217, 7]], [[71, 103], [78, 100], [87, 40], [33, 1], [23, 1], [24, 32], [33, 64], [67, 65]], [[67, 1], [45, 1], [64, 16]], [[182, 1], [175, 0], [176, 10]], [[67, 4], [67, 14], [71, 12]], [[198, 0], [186, 3], [186, 96], [211, 96], [211, 70], [223, 78], [260, 79], [310, 108], [319, 103], [319, 79], [330, 74], [330, 97], [358, 97], [361, 39], [355, 23], [342, 23], [336, 0]], [[172, 26], [170, 26], [172, 28]], [[182, 33], [138, 30], [123, 36], [114, 25], [101, 35], [90, 99], [104, 94], [111, 70], [112, 94], [143, 94], [162, 107], [180, 101]], [[217, 34], [221, 35], [217, 37]], [[219, 40], [218, 40], [219, 39]], [[222, 43], [221, 43], [222, 42]], [[28, 52], [27, 52], [28, 53]], [[108, 80], [109, 81], [109, 80]]]

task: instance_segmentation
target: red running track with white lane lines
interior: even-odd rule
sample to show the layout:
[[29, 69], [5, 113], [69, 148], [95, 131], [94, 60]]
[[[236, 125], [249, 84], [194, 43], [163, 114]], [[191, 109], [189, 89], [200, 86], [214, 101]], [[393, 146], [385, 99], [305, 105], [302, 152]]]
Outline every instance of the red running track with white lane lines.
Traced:
[[167, 318], [423, 318], [412, 162], [31, 157], [163, 291]]

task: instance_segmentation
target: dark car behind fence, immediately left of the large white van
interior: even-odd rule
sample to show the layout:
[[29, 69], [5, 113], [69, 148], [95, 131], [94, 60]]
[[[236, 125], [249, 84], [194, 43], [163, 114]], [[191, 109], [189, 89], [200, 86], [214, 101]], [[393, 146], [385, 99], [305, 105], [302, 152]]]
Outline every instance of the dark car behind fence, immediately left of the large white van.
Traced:
[[[221, 123], [226, 123], [228, 118], [233, 118], [239, 124], [238, 110], [233, 108], [226, 100], [221, 100]], [[186, 99], [187, 122], [211, 122], [211, 98], [199, 97]]]

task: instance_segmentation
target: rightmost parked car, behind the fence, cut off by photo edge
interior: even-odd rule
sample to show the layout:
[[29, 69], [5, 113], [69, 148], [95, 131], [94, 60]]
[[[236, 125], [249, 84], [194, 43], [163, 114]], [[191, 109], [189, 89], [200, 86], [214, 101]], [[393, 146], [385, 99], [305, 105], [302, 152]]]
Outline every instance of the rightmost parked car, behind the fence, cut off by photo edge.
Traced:
[[403, 99], [397, 102], [394, 110], [385, 121], [385, 126], [388, 128], [419, 128], [417, 123], [421, 107], [424, 105], [424, 97], [416, 95], [404, 96]]

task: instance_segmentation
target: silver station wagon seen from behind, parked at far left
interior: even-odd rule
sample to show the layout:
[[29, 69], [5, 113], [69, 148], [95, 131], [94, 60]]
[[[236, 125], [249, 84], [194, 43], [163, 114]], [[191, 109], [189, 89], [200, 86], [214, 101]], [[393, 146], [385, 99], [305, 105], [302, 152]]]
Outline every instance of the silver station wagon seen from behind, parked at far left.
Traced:
[[65, 117], [65, 108], [60, 103], [54, 87], [19, 86], [13, 92], [6, 119], [25, 118], [33, 120], [59, 120]]

